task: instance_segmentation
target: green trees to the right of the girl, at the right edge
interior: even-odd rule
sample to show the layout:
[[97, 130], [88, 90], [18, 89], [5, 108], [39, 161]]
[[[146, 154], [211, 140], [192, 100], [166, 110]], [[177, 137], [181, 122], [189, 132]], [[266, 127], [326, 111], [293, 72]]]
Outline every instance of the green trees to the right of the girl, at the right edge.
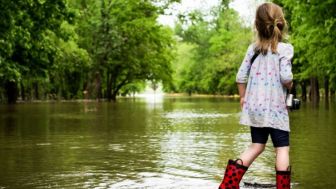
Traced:
[[[285, 7], [291, 23], [295, 78], [299, 81], [318, 78], [324, 81], [325, 90], [335, 91], [336, 1], [277, 0], [276, 3]], [[315, 87], [318, 86], [311, 89]]]

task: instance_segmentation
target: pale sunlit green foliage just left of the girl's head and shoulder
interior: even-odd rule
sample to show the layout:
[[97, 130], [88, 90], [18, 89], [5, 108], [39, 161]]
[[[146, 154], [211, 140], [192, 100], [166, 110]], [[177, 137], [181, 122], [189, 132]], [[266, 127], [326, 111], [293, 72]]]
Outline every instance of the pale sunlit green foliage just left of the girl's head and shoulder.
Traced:
[[209, 22], [202, 19], [200, 12], [194, 12], [187, 29], [183, 29], [182, 24], [175, 28], [183, 39], [178, 49], [180, 56], [174, 64], [179, 65], [174, 88], [178, 92], [236, 92], [236, 72], [251, 42], [251, 31], [244, 28], [237, 13], [226, 6], [214, 9], [214, 15], [216, 19]]

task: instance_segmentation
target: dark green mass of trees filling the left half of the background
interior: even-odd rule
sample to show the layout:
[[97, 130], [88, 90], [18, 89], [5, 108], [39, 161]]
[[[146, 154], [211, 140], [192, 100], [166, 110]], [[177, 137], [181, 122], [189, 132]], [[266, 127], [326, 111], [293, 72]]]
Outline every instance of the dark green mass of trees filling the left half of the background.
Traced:
[[1, 0], [0, 91], [115, 100], [146, 80], [169, 85], [175, 41], [157, 18], [173, 2]]

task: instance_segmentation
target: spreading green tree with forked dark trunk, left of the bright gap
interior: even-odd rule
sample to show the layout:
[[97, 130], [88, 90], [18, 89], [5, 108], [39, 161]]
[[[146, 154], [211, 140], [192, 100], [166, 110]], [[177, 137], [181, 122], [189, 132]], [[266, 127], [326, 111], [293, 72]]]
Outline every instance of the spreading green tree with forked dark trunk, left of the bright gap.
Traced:
[[[98, 7], [95, 12], [81, 2], [86, 7], [81, 17], [85, 24], [78, 33], [89, 37], [81, 47], [93, 59], [97, 98], [105, 91], [107, 99], [115, 101], [122, 87], [141, 80], [169, 83], [174, 40], [170, 29], [156, 22], [159, 7], [151, 1], [101, 0], [90, 2]], [[95, 18], [85, 15], [89, 13]]]

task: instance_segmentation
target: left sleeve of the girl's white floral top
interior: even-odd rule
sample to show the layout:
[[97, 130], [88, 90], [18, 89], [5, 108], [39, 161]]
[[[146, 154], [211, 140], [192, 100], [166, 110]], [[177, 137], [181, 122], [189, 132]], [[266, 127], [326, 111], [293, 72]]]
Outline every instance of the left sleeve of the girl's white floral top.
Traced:
[[251, 58], [254, 55], [254, 50], [253, 50], [253, 44], [251, 44], [246, 52], [245, 58], [242, 62], [242, 64], [239, 67], [237, 76], [236, 76], [236, 82], [237, 83], [247, 83], [250, 68], [251, 68]]

